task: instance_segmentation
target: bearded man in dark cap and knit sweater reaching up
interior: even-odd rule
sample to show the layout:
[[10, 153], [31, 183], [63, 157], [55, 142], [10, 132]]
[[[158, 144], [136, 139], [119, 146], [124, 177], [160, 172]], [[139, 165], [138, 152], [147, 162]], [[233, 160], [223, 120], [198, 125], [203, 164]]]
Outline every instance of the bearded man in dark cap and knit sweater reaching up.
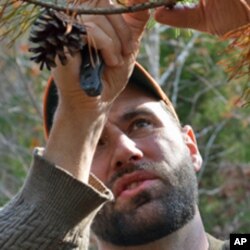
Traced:
[[148, 18], [148, 11], [83, 17], [89, 44], [105, 61], [103, 91], [88, 97], [81, 90], [79, 55], [58, 63], [45, 98], [47, 145], [0, 213], [1, 249], [87, 249], [92, 221], [102, 250], [224, 247], [199, 215], [194, 133], [135, 63]]

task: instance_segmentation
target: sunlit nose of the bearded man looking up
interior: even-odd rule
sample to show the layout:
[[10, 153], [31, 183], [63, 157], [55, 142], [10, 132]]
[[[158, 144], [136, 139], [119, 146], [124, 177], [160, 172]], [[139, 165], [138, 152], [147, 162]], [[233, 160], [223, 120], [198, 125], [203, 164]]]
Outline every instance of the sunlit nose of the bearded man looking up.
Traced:
[[143, 157], [143, 152], [126, 134], [120, 134], [113, 146], [114, 151], [111, 159], [113, 168], [120, 168], [128, 163], [134, 163]]

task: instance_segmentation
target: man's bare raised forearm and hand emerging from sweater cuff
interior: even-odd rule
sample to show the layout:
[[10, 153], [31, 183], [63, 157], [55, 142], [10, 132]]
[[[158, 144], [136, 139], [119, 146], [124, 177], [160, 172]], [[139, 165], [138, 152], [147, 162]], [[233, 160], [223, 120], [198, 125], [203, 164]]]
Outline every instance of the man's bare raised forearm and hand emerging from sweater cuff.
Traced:
[[[111, 6], [106, 0], [84, 3], [95, 6], [95, 2], [99, 7]], [[109, 108], [133, 69], [147, 13], [81, 17], [89, 45], [100, 50], [105, 62], [100, 96], [89, 97], [80, 88], [80, 55], [69, 57], [66, 66], [59, 65], [53, 71], [59, 105], [44, 157], [83, 182], [88, 181]]]

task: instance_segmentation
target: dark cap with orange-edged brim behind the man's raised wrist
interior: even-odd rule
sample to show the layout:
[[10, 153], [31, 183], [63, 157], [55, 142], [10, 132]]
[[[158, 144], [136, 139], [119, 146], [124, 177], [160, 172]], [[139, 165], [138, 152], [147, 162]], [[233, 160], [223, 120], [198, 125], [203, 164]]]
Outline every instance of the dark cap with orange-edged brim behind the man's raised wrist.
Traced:
[[[150, 74], [139, 64], [136, 63], [133, 73], [129, 79], [132, 84], [138, 84], [143, 90], [152, 93], [156, 98], [163, 100], [171, 114], [179, 121], [179, 118], [175, 112], [173, 104], [169, 100], [168, 96], [161, 89], [159, 84], [150, 76]], [[49, 79], [47, 88], [45, 90], [44, 102], [43, 102], [43, 114], [44, 114], [44, 129], [45, 135], [48, 137], [49, 131], [52, 127], [53, 116], [58, 104], [58, 95], [56, 85], [52, 78]]]

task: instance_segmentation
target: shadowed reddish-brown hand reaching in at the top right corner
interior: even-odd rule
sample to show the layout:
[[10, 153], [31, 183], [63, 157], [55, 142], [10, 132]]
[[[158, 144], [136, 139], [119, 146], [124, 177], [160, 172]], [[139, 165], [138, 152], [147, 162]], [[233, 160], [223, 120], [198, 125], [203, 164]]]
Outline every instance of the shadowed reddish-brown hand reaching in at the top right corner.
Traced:
[[250, 0], [200, 0], [199, 4], [159, 8], [155, 20], [179, 28], [222, 36], [250, 22]]

